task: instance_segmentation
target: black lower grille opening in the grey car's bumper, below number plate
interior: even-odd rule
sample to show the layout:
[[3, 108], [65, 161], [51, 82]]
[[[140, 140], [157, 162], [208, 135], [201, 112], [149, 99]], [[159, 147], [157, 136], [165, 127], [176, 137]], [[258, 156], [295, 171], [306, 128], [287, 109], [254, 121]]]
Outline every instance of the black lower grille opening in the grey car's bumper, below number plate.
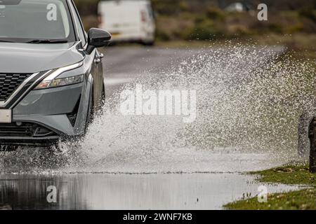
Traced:
[[0, 137], [51, 137], [55, 132], [34, 123], [0, 123]]

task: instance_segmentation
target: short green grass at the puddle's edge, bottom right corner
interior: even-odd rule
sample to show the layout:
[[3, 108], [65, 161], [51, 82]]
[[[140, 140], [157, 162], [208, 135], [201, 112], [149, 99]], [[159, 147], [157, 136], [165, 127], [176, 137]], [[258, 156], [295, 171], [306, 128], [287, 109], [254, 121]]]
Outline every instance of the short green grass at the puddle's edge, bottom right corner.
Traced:
[[260, 172], [257, 181], [264, 183], [301, 184], [309, 188], [288, 193], [268, 195], [268, 202], [259, 203], [257, 197], [225, 204], [234, 210], [316, 210], [316, 174], [310, 174], [307, 165], [286, 165]]

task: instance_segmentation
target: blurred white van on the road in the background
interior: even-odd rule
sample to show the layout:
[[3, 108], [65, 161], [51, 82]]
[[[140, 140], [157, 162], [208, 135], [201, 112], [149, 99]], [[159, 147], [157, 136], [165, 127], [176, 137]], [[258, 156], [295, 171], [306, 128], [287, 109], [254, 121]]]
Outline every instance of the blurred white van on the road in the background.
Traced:
[[100, 1], [98, 6], [100, 29], [110, 31], [112, 41], [154, 43], [154, 16], [150, 1]]

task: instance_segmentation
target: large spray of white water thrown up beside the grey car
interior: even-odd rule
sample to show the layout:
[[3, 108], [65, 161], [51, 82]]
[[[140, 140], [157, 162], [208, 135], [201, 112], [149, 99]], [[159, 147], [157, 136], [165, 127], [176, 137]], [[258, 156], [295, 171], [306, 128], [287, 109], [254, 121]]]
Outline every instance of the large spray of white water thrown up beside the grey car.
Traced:
[[[298, 116], [312, 106], [315, 69], [282, 52], [227, 44], [144, 71], [147, 78], [107, 99], [81, 142], [61, 143], [51, 155], [2, 153], [2, 166], [32, 172], [239, 172], [288, 162], [297, 154]], [[148, 90], [197, 90], [197, 120], [122, 116], [119, 93], [136, 83]]]

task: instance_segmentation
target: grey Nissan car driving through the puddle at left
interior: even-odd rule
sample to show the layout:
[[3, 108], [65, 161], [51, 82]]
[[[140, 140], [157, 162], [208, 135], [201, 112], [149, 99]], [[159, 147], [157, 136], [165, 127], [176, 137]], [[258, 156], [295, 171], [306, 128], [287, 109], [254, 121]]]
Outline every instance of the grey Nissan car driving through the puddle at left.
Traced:
[[84, 31], [72, 0], [0, 1], [0, 145], [81, 137], [105, 95], [111, 35]]

